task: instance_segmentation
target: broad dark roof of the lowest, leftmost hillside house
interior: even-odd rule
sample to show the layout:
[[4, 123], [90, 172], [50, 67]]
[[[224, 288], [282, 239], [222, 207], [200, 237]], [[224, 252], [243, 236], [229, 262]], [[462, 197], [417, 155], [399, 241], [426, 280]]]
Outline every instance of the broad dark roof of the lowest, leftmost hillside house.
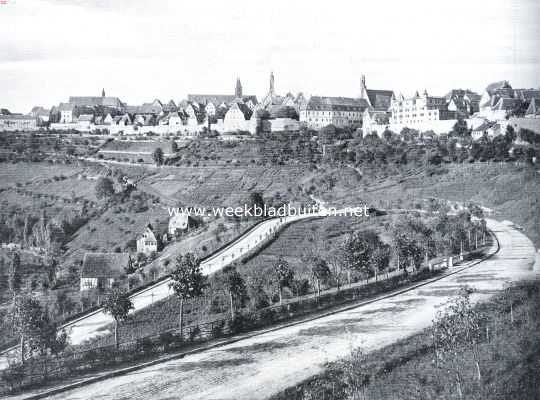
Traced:
[[117, 278], [125, 273], [130, 261], [128, 253], [86, 253], [81, 278]]

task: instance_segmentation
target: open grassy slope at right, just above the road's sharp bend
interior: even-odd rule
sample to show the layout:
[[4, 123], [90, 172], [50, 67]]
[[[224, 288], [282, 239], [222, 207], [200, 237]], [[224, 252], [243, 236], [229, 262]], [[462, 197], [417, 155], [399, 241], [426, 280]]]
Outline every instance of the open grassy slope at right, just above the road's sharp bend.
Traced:
[[413, 208], [422, 199], [436, 197], [476, 202], [493, 209], [493, 216], [523, 226], [540, 246], [540, 173], [531, 165], [475, 163], [444, 165], [438, 173], [427, 170], [385, 176], [366, 173], [357, 191], [337, 188], [317, 194], [331, 203], [348, 205], [366, 202], [375, 207]]

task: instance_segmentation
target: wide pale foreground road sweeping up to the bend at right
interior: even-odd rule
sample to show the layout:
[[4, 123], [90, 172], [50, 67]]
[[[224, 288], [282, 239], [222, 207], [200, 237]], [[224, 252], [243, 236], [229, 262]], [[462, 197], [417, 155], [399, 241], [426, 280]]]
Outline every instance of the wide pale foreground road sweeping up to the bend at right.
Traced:
[[[267, 398], [321, 372], [325, 362], [348, 355], [351, 348], [374, 350], [428, 327], [436, 311], [445, 307], [463, 285], [476, 289], [472, 300], [479, 301], [508, 283], [537, 279], [540, 271], [534, 266], [532, 242], [510, 224], [488, 219], [487, 225], [498, 239], [499, 251], [479, 263], [453, 267], [451, 275], [352, 309], [262, 332], [50, 398]], [[492, 252], [496, 252], [496, 245]], [[215, 262], [209, 271], [219, 268], [219, 259]]]

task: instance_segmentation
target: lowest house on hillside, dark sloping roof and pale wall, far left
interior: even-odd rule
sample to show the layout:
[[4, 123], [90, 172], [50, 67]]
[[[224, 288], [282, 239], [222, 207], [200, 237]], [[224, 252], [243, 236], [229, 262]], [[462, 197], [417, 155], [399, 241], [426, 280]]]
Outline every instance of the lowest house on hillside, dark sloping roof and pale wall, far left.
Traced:
[[131, 268], [128, 253], [86, 253], [81, 269], [81, 291], [110, 289]]

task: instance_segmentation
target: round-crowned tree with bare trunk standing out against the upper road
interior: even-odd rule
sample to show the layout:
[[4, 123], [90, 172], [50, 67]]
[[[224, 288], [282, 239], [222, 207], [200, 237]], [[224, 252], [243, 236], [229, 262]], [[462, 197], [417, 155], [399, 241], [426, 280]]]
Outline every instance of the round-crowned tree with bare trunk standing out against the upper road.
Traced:
[[208, 286], [207, 277], [201, 271], [199, 260], [193, 253], [176, 257], [175, 270], [171, 273], [169, 287], [180, 300], [179, 330], [182, 338], [184, 301], [201, 296]]

